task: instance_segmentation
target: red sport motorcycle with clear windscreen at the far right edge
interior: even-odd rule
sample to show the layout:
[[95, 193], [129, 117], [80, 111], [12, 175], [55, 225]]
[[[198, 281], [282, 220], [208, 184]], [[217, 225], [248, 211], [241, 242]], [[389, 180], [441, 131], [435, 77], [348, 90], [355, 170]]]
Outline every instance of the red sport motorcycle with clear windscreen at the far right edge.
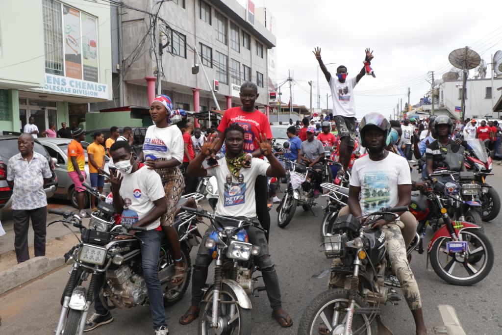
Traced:
[[479, 200], [481, 202], [482, 219], [490, 221], [494, 219], [500, 211], [500, 197], [497, 191], [485, 182], [487, 176], [492, 176], [492, 159], [489, 150], [484, 147], [484, 143], [479, 139], [468, 139], [469, 150], [465, 152], [464, 164], [467, 171], [474, 172], [474, 181], [481, 185]]

